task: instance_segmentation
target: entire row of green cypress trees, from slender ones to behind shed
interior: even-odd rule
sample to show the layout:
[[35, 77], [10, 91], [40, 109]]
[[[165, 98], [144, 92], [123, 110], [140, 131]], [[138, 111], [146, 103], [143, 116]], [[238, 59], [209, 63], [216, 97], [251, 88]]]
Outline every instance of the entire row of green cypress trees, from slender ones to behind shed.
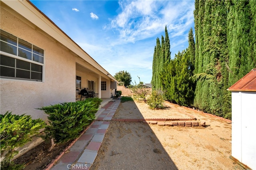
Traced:
[[227, 89], [256, 67], [256, 1], [195, 0], [194, 22], [195, 41], [191, 28], [188, 49], [174, 59], [167, 28], [162, 47], [157, 38], [153, 89], [168, 101], [231, 119]]

